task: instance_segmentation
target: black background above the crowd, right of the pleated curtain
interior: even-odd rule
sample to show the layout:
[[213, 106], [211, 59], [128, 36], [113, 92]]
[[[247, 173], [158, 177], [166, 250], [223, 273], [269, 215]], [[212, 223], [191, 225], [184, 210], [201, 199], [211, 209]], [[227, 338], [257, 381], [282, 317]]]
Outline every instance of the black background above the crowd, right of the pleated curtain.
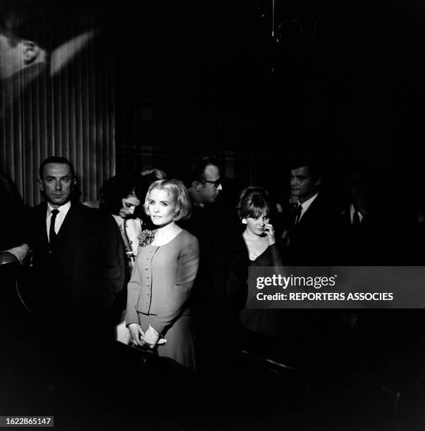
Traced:
[[[271, 1], [116, 11], [117, 170], [143, 163], [144, 147], [176, 174], [186, 153], [213, 150], [230, 175], [264, 184], [310, 148], [333, 175], [362, 165], [376, 187], [409, 194], [400, 177], [417, 173], [423, 137], [423, 6], [377, 3], [276, 1], [274, 39]], [[284, 20], [299, 25], [278, 31]]]

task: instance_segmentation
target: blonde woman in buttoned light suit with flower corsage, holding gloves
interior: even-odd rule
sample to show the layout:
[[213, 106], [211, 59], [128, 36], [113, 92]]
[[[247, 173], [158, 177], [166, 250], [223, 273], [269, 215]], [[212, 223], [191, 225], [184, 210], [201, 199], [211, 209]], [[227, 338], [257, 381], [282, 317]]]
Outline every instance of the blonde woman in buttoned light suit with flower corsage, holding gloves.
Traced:
[[188, 299], [199, 262], [197, 239], [175, 222], [190, 217], [187, 189], [178, 180], [153, 182], [144, 208], [155, 230], [140, 239], [128, 284], [126, 322], [133, 344], [157, 346], [159, 356], [194, 369]]

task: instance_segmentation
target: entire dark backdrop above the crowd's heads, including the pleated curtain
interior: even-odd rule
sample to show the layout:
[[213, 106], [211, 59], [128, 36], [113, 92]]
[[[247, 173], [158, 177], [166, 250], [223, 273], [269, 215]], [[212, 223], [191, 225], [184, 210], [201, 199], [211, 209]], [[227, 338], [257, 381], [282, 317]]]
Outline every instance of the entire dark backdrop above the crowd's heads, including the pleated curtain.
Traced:
[[384, 202], [421, 199], [422, 4], [276, 0], [274, 38], [272, 4], [73, 4], [80, 18], [98, 15], [101, 32], [4, 111], [1, 169], [27, 204], [39, 201], [37, 167], [51, 154], [75, 163], [84, 200], [116, 171], [180, 177], [205, 151], [238, 187], [287, 189], [292, 153], [314, 149], [335, 190], [357, 165], [379, 178]]

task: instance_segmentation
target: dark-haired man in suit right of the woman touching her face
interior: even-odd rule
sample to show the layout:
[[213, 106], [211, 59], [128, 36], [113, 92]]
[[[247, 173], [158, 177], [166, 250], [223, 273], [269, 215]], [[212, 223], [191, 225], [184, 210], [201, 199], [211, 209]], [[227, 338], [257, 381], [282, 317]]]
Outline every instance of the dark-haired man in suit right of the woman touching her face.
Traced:
[[[298, 199], [292, 206], [287, 259], [290, 266], [335, 266], [338, 246], [338, 211], [321, 190], [322, 173], [311, 157], [292, 162], [291, 194]], [[292, 204], [291, 204], [292, 205]], [[315, 270], [316, 275], [321, 275]], [[327, 273], [325, 274], [327, 275]], [[332, 310], [293, 309], [285, 313], [288, 327], [288, 350], [294, 351], [304, 366], [309, 361], [328, 361], [335, 330], [339, 328], [339, 313]], [[291, 338], [292, 337], [292, 338]], [[325, 348], [326, 346], [326, 348]], [[318, 352], [324, 350], [324, 354]]]

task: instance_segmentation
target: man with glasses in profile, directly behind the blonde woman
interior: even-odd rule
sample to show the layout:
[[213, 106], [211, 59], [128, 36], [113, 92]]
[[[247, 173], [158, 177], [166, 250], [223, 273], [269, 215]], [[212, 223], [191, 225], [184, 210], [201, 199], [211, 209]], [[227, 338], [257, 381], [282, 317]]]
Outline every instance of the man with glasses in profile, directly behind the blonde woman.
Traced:
[[217, 199], [223, 187], [216, 158], [196, 158], [185, 172], [192, 217], [182, 227], [199, 241], [199, 269], [191, 299], [197, 362], [199, 370], [206, 370], [213, 364], [216, 368], [219, 359], [211, 349], [211, 339], [216, 333], [217, 316], [223, 319], [226, 313], [229, 227], [233, 226], [229, 222], [233, 219], [231, 211]]

